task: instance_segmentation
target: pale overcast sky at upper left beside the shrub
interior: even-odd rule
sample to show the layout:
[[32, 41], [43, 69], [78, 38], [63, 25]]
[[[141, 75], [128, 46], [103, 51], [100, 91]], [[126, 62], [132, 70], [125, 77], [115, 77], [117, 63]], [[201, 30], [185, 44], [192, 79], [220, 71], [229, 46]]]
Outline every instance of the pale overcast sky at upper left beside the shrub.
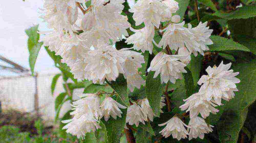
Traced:
[[[47, 30], [46, 23], [38, 18], [38, 7], [42, 8], [42, 0], [2, 1], [0, 7], [0, 54], [26, 68], [28, 64], [27, 35], [25, 29], [39, 24], [39, 30]], [[4, 63], [0, 62], [0, 65]], [[35, 71], [46, 73], [57, 73], [57, 68], [42, 47], [37, 58]], [[0, 76], [7, 74], [1, 71]]]

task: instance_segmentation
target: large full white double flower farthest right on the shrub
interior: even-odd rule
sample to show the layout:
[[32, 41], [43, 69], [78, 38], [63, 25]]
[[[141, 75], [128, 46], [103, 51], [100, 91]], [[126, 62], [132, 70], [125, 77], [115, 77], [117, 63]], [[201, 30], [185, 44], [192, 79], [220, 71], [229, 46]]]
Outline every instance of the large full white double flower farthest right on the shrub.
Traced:
[[216, 65], [211, 68], [210, 66], [206, 69], [208, 75], [203, 75], [198, 84], [204, 83], [199, 90], [199, 93], [205, 94], [207, 101], [212, 98], [218, 105], [221, 105], [221, 98], [229, 101], [234, 98], [234, 92], [238, 91], [235, 83], [239, 83], [240, 80], [234, 76], [238, 75], [239, 72], [233, 73], [233, 70], [229, 70], [231, 63], [223, 64], [220, 63], [219, 67]]

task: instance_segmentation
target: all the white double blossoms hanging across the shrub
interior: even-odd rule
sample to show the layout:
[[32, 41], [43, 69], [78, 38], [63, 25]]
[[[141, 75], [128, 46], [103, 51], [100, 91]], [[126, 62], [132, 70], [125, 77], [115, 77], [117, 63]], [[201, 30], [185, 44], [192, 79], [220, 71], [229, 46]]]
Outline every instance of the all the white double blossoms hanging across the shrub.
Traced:
[[[86, 1], [45, 0], [44, 8], [40, 9], [40, 18], [53, 30], [38, 32], [45, 35], [39, 42], [43, 41], [44, 46], [60, 55], [61, 61], [70, 67], [76, 79], [103, 84], [106, 80], [115, 81], [123, 74], [127, 87], [133, 92], [135, 87], [140, 89], [141, 85], [145, 86], [139, 72], [142, 63], [145, 63], [144, 56], [134, 50], [152, 54], [153, 47], [157, 46], [166, 50], [156, 54], [148, 71], [155, 71], [153, 78], [160, 74], [161, 83], [175, 83], [176, 79], [182, 78], [182, 73], [187, 72], [184, 68], [191, 60], [190, 55], [197, 56], [198, 52], [204, 55], [204, 51], [209, 50], [207, 45], [213, 44], [209, 39], [213, 30], [206, 27], [207, 22], [200, 22], [194, 28], [188, 24], [186, 28], [185, 21], [179, 15], [173, 15], [179, 9], [174, 0], [138, 0], [129, 11], [134, 13], [135, 26], [144, 23], [145, 27], [141, 29], [132, 28], [127, 16], [121, 15], [124, 0], [92, 0], [89, 7], [81, 6]], [[129, 36], [128, 28], [135, 34]], [[159, 43], [154, 41], [155, 29], [162, 34]], [[133, 47], [117, 50], [114, 44], [124, 36], [125, 42], [133, 44]], [[208, 67], [208, 75], [203, 75], [198, 81], [202, 85], [199, 92], [184, 100], [185, 104], [180, 106], [190, 112], [188, 126], [175, 115], [166, 123], [159, 124], [166, 125], [160, 133], [165, 137], [172, 135], [178, 140], [189, 135], [190, 140], [203, 138], [205, 133], [211, 132], [213, 126], [207, 125], [203, 118], [210, 113], [216, 114], [218, 110], [215, 107], [222, 105], [221, 99], [229, 101], [234, 98], [233, 91], [238, 91], [235, 83], [240, 80], [234, 77], [238, 73], [228, 70], [230, 66], [231, 63], [224, 65], [222, 62], [218, 68]], [[68, 123], [63, 129], [84, 138], [86, 133], [101, 128], [99, 119], [103, 116], [105, 121], [110, 116], [114, 119], [121, 117], [121, 109], [126, 107], [109, 96], [100, 105], [99, 95], [79, 95], [84, 98], [73, 102], [74, 111], [70, 113], [73, 118], [62, 121]], [[160, 108], [165, 106], [164, 101], [165, 98], [161, 97]], [[203, 118], [198, 117], [199, 113]], [[148, 99], [144, 98], [127, 108], [126, 123], [138, 126], [140, 122], [153, 121], [154, 116]]]

